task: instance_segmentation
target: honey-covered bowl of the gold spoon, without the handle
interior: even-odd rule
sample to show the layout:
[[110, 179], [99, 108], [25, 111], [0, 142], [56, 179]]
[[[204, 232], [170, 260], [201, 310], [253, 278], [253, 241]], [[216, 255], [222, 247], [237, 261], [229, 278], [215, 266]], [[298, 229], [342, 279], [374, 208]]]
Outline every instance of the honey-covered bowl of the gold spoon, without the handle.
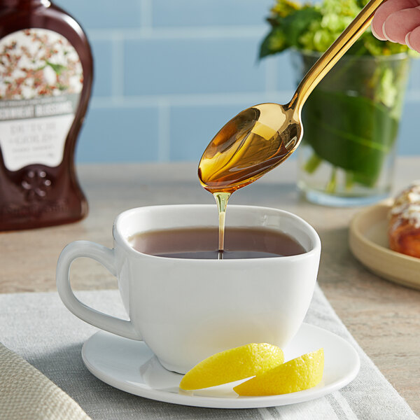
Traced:
[[198, 168], [200, 182], [211, 193], [233, 193], [286, 160], [301, 138], [302, 124], [287, 105], [245, 109], [207, 146]]

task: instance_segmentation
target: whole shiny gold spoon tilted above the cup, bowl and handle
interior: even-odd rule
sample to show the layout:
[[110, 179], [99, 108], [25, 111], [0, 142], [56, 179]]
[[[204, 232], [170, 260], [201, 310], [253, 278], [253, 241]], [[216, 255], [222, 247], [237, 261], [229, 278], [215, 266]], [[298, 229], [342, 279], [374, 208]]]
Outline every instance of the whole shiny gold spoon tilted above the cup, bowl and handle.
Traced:
[[260, 104], [232, 118], [204, 151], [198, 167], [211, 193], [233, 193], [286, 160], [299, 146], [300, 113], [314, 87], [370, 25], [385, 0], [371, 0], [309, 69], [286, 105]]

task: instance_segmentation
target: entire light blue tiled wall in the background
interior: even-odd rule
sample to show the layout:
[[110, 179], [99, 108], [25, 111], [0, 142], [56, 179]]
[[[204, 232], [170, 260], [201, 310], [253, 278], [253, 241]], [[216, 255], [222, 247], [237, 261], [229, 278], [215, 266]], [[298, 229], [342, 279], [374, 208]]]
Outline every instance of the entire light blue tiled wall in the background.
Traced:
[[[284, 103], [293, 93], [288, 53], [257, 60], [274, 0], [55, 3], [80, 22], [94, 55], [78, 162], [197, 161], [241, 109]], [[400, 154], [420, 154], [419, 111], [420, 59], [409, 81]]]

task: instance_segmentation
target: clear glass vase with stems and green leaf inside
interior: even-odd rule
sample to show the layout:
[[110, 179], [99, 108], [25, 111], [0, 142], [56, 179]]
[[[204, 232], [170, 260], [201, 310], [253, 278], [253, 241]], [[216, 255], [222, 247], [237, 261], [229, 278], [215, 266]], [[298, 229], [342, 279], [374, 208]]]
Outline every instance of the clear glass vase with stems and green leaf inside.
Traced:
[[[319, 53], [295, 52], [299, 82]], [[345, 55], [302, 110], [297, 185], [329, 206], [370, 204], [391, 191], [409, 57]]]

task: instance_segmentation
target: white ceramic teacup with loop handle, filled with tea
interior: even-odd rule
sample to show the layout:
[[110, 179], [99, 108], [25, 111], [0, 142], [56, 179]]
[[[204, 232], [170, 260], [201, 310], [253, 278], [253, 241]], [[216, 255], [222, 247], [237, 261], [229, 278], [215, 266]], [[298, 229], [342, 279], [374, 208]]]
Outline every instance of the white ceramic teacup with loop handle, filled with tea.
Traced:
[[[66, 307], [97, 328], [144, 340], [169, 370], [185, 373], [211, 354], [251, 342], [284, 349], [307, 313], [314, 292], [321, 241], [302, 218], [278, 209], [230, 205], [227, 225], [267, 228], [297, 240], [305, 253], [246, 260], [165, 258], [134, 250], [141, 232], [216, 227], [216, 205], [140, 207], [120, 214], [113, 249], [90, 241], [67, 245], [57, 264], [57, 289]], [[69, 269], [90, 257], [118, 277], [130, 321], [80, 302]]]

